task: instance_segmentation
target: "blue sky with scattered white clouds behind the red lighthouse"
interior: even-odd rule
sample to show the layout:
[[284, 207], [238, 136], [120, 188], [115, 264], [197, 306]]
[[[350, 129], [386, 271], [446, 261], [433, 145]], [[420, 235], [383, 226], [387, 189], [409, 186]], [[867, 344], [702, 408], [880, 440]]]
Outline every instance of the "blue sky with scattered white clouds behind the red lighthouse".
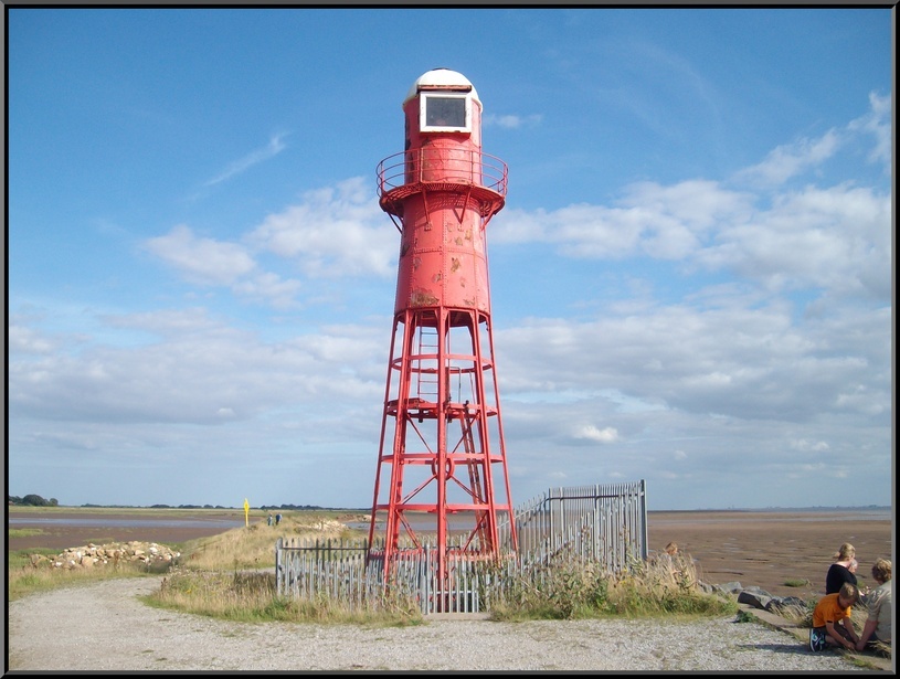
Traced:
[[435, 67], [488, 226], [513, 502], [892, 505], [888, 9], [8, 9], [8, 492], [372, 500]]

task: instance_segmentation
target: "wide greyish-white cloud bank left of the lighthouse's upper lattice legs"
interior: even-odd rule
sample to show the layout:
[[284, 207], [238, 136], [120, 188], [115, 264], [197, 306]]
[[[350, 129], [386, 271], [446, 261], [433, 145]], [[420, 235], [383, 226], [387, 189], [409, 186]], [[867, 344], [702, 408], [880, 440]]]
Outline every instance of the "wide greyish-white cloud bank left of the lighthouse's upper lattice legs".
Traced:
[[[266, 343], [200, 308], [98, 320], [153, 339], [133, 347], [95, 341], [77, 354], [13, 362], [10, 410], [18, 417], [213, 424], [303, 404], [311, 424], [331, 416], [322, 406], [329, 400], [352, 394], [377, 403], [383, 391], [383, 342], [369, 328]], [[342, 370], [348, 365], [353, 370]]]

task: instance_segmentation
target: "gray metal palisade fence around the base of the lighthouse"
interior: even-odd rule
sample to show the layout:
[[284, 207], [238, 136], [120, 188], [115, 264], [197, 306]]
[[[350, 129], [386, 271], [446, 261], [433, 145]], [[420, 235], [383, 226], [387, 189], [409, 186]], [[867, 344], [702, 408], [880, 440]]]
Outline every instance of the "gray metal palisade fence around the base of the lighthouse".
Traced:
[[[499, 560], [454, 556], [448, 580], [437, 582], [436, 548], [401, 550], [389, 582], [369, 541], [278, 539], [275, 577], [279, 596], [338, 601], [353, 611], [375, 611], [398, 602], [432, 613], [485, 613], [522, 582], [540, 586], [551, 569], [592, 562], [622, 573], [647, 559], [647, 502], [644, 480], [631, 484], [551, 488], [515, 511], [519, 549], [513, 554], [509, 524], [500, 526]], [[373, 552], [380, 547], [375, 543]], [[449, 545], [459, 547], [462, 544]]]

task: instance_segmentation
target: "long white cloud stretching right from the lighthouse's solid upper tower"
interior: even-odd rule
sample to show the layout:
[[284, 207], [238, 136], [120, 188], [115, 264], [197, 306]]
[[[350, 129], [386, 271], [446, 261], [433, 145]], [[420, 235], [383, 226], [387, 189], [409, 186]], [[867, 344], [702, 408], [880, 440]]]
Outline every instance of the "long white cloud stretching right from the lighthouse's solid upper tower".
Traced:
[[[754, 202], [767, 201], [767, 209]], [[628, 187], [614, 206], [510, 210], [494, 245], [548, 243], [560, 256], [622, 259], [646, 254], [729, 272], [766, 290], [819, 288], [888, 299], [891, 197], [849, 182], [772, 197], [691, 180]]]

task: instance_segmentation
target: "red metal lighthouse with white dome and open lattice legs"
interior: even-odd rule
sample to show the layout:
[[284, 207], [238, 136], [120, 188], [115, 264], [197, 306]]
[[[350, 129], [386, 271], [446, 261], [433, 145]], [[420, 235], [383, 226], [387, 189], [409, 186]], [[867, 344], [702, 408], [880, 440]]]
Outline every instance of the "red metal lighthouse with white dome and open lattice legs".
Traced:
[[378, 166], [380, 205], [401, 238], [370, 558], [387, 573], [433, 535], [443, 579], [452, 555], [517, 549], [485, 238], [507, 167], [481, 152], [481, 102], [464, 75], [428, 71], [403, 112], [405, 150]]

